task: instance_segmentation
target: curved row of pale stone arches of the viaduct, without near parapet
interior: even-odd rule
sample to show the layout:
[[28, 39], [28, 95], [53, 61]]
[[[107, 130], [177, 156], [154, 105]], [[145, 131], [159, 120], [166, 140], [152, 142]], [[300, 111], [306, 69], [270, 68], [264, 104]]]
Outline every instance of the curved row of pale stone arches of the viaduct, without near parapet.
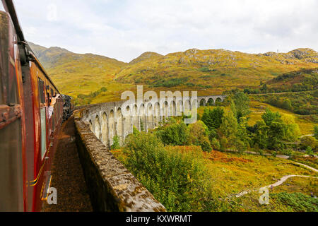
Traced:
[[181, 116], [182, 112], [191, 112], [194, 107], [215, 105], [224, 99], [224, 95], [214, 95], [196, 99], [174, 97], [172, 100], [143, 100], [139, 104], [136, 101], [107, 102], [87, 109], [82, 119], [95, 136], [110, 148], [114, 136], [124, 141], [132, 133], [133, 126], [139, 131], [155, 129], [168, 117]]

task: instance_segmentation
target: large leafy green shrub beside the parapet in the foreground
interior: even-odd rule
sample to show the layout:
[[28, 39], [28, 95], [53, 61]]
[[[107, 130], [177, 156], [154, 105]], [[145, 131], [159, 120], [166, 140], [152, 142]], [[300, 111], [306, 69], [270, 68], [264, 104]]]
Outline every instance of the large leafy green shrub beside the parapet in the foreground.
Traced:
[[168, 151], [156, 136], [141, 133], [129, 136], [126, 153], [126, 167], [168, 211], [210, 211], [206, 208], [222, 205], [208, 189], [200, 148]]

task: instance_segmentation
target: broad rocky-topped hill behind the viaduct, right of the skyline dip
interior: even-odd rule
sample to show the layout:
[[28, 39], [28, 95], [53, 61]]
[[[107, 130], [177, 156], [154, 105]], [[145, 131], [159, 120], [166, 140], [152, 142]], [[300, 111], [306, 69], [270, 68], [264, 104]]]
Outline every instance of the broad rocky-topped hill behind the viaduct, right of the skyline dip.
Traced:
[[282, 73], [317, 67], [318, 53], [313, 49], [295, 49], [279, 54], [189, 49], [166, 56], [155, 54], [152, 57], [145, 53], [132, 62], [134, 64], [124, 66], [117, 73], [117, 82], [220, 92], [253, 87]]

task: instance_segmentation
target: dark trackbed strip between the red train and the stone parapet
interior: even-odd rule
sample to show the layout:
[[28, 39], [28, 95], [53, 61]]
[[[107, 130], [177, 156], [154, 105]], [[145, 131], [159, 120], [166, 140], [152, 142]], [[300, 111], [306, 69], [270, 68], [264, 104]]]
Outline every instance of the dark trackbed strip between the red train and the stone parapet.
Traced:
[[57, 189], [57, 205], [45, 203], [43, 212], [91, 212], [90, 197], [75, 143], [74, 117], [61, 127], [53, 161], [52, 184]]

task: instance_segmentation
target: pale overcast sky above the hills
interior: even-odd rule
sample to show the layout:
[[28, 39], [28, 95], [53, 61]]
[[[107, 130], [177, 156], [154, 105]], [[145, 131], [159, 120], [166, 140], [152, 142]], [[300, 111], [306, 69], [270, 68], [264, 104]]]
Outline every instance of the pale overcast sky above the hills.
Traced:
[[13, 0], [25, 37], [131, 61], [143, 52], [318, 49], [317, 0]]

